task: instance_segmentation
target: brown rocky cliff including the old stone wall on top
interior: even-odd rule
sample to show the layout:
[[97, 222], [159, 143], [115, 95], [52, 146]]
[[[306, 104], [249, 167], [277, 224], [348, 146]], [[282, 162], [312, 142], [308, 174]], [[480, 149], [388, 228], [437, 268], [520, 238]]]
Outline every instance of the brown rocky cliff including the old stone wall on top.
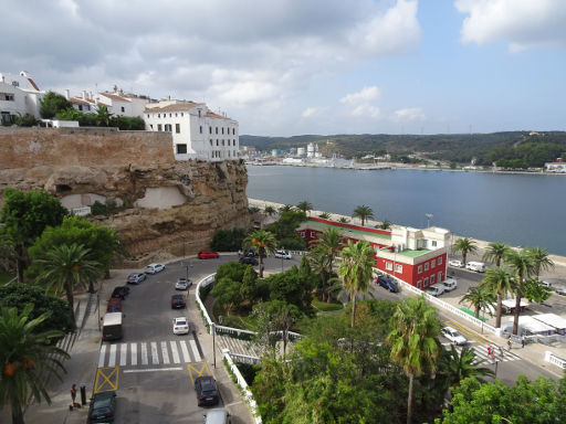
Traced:
[[189, 255], [247, 227], [247, 183], [240, 161], [176, 161], [163, 132], [0, 128], [0, 191], [43, 189], [69, 209], [112, 199], [117, 213], [91, 219], [138, 257]]

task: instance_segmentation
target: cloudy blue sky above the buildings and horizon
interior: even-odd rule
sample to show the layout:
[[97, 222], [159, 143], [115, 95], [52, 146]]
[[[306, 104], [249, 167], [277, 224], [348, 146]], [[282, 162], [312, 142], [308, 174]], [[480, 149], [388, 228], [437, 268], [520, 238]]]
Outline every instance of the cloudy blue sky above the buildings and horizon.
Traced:
[[3, 0], [0, 73], [203, 102], [240, 134], [566, 128], [566, 0]]

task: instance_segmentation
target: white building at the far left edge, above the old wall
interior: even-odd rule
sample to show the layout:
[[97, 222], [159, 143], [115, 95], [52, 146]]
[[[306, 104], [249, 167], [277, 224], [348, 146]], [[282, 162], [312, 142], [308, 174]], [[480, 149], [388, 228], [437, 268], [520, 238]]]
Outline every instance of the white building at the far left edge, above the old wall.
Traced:
[[25, 71], [19, 75], [0, 74], [0, 124], [27, 113], [39, 118], [44, 94]]

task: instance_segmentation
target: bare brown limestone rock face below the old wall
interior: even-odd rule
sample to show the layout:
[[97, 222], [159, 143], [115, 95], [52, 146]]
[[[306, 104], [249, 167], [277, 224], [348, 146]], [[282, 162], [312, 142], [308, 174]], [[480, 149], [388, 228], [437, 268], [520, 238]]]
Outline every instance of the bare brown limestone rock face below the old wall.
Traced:
[[[80, 147], [75, 146], [77, 150]], [[23, 149], [22, 155], [36, 151]], [[193, 254], [209, 247], [216, 231], [250, 224], [243, 162], [175, 161], [171, 153], [167, 160], [151, 162], [143, 157], [123, 165], [116, 165], [118, 160], [113, 157], [109, 165], [104, 165], [104, 158], [88, 161], [84, 151], [77, 165], [67, 165], [69, 157], [61, 165], [56, 159], [38, 165], [34, 158], [29, 167], [21, 166], [24, 161], [18, 157], [17, 168], [0, 169], [0, 191], [45, 190], [70, 209], [113, 199], [123, 205], [117, 213], [90, 219], [115, 229], [135, 256], [155, 252], [181, 255], [184, 251]]]

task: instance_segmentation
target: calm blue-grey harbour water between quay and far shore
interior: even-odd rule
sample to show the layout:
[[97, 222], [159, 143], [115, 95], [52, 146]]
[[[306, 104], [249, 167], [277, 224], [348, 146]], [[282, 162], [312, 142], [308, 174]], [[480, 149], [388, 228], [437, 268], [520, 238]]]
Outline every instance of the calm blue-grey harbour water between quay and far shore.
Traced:
[[376, 221], [424, 227], [566, 256], [566, 176], [248, 166], [247, 194]]

